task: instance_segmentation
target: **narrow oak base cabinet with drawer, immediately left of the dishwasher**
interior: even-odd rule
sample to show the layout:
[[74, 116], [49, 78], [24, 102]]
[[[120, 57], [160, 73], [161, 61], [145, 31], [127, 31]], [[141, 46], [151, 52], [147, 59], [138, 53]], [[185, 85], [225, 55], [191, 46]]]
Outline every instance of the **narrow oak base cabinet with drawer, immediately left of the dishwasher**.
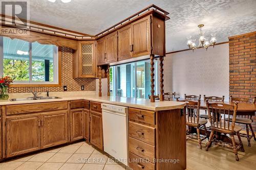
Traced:
[[96, 102], [90, 103], [90, 142], [103, 150], [103, 125], [101, 104]]

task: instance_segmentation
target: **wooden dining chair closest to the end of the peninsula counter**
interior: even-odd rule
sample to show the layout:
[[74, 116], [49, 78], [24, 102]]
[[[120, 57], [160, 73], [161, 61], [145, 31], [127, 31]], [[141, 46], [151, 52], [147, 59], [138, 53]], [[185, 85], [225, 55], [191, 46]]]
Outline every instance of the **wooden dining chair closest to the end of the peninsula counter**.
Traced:
[[[201, 142], [208, 137], [208, 133], [206, 130], [205, 124], [207, 124], [207, 120], [199, 117], [200, 111], [200, 100], [198, 102], [189, 101], [189, 100], [178, 100], [180, 102], [186, 103], [186, 125], [189, 127], [188, 135], [193, 137], [193, 133], [191, 132], [191, 128], [197, 129], [197, 139], [199, 148], [202, 149]], [[203, 126], [205, 130], [205, 137], [200, 136], [200, 127]]]

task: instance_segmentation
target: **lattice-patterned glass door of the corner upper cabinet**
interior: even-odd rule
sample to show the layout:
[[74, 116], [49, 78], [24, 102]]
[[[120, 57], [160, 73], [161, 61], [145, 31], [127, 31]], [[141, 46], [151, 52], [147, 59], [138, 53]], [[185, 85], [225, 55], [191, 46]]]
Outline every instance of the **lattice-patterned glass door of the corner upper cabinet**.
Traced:
[[80, 43], [80, 72], [82, 78], [95, 78], [96, 64], [95, 64], [95, 44], [94, 43]]

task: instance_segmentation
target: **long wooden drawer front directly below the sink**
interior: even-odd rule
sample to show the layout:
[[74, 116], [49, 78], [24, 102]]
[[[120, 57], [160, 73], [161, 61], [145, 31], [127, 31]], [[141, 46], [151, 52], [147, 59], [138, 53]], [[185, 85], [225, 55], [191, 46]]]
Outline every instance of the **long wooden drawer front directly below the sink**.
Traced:
[[23, 114], [68, 109], [68, 102], [48, 102], [6, 106], [6, 114]]

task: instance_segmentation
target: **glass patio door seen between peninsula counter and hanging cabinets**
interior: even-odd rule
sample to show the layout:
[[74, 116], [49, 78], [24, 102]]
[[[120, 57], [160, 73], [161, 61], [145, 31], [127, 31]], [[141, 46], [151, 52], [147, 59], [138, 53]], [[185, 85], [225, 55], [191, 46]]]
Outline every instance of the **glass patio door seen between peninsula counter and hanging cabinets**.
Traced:
[[[110, 89], [114, 96], [148, 99], [151, 95], [150, 60], [110, 67]], [[155, 94], [157, 93], [157, 60], [155, 60]]]

